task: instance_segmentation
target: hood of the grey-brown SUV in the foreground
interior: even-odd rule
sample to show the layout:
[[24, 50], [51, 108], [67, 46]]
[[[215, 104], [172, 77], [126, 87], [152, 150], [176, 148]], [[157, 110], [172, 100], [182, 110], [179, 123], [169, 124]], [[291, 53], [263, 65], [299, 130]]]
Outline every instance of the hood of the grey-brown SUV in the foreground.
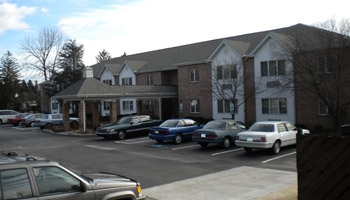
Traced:
[[90, 179], [90, 185], [94, 190], [114, 188], [126, 185], [135, 186], [137, 182], [127, 177], [109, 173], [84, 174]]

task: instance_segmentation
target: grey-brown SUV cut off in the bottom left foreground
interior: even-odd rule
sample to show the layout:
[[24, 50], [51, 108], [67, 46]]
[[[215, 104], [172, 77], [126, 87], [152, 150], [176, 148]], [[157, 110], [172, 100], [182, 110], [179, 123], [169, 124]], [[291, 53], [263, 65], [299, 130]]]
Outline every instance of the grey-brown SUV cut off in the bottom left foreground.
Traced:
[[80, 175], [57, 162], [17, 153], [0, 155], [0, 199], [146, 199], [140, 184], [109, 173]]

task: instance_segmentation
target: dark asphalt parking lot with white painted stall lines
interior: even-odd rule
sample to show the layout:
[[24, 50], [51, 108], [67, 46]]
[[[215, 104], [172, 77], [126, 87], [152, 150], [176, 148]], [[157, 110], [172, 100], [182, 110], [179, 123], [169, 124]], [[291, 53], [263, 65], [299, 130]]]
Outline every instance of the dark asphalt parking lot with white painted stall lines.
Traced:
[[[125, 140], [105, 140], [95, 135], [52, 133], [11, 125], [0, 126], [0, 143], [2, 151], [44, 156], [82, 173], [107, 171], [122, 174], [138, 180], [145, 192], [154, 194], [159, 193], [157, 189], [169, 187], [169, 184], [174, 186], [189, 180], [203, 182], [212, 179], [211, 176], [224, 175], [228, 178], [229, 174], [231, 178], [242, 179], [232, 184], [257, 183], [257, 173], [276, 173], [279, 178], [283, 178], [281, 174], [286, 174], [289, 177], [287, 184], [296, 181], [295, 146], [283, 148], [278, 155], [268, 151], [247, 154], [235, 146], [222, 149], [210, 145], [202, 149], [191, 141], [179, 145], [170, 142], [158, 144], [145, 135]], [[242, 177], [241, 173], [252, 177]], [[281, 185], [281, 182], [276, 184]], [[213, 192], [218, 193], [218, 190]]]

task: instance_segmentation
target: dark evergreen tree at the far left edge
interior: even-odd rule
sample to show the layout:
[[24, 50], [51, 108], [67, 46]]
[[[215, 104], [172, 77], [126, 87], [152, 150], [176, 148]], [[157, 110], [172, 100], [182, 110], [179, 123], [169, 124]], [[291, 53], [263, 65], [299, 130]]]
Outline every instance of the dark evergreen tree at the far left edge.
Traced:
[[1, 98], [0, 108], [19, 109], [18, 93], [20, 89], [20, 73], [17, 60], [7, 51], [1, 58], [0, 63], [0, 82]]

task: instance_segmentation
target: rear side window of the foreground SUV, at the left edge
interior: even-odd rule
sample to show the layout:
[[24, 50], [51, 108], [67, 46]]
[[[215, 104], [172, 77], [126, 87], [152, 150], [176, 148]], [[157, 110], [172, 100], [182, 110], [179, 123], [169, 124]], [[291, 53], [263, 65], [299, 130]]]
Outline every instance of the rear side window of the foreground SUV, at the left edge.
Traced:
[[[33, 197], [26, 169], [0, 171], [2, 199], [23, 199]], [[0, 194], [1, 197], [1, 194]]]

